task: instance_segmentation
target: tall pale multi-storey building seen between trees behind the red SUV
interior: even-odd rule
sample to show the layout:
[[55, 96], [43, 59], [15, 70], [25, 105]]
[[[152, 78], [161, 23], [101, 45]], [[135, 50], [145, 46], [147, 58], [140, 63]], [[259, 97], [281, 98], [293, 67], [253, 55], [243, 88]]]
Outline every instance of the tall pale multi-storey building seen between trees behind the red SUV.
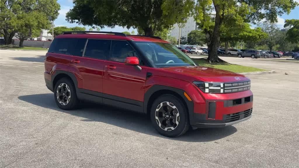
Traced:
[[[197, 26], [196, 26], [196, 22], [193, 19], [193, 17], [190, 17], [186, 24], [184, 25], [184, 27], [181, 28], [181, 36], [186, 37], [188, 36], [188, 33], [190, 33], [190, 31], [192, 30], [196, 30]], [[179, 26], [178, 24], [173, 25], [173, 29], [170, 32], [170, 36], [175, 37], [176, 39], [179, 39]]]

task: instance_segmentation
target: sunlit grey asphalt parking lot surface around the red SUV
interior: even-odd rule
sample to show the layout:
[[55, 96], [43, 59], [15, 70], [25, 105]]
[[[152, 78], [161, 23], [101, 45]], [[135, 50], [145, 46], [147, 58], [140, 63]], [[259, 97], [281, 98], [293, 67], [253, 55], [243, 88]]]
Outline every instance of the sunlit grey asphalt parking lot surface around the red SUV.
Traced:
[[45, 53], [0, 50], [0, 167], [299, 167], [299, 63], [223, 58], [276, 71], [248, 75], [251, 119], [166, 138], [143, 115], [58, 109]]

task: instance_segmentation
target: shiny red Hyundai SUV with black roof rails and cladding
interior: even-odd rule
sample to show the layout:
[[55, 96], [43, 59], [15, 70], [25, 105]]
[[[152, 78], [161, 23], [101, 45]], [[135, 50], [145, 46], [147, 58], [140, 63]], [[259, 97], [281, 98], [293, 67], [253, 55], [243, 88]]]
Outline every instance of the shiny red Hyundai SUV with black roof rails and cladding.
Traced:
[[223, 127], [251, 117], [250, 80], [197, 65], [158, 37], [65, 32], [45, 59], [45, 83], [61, 109], [80, 100], [149, 114], [162, 135]]

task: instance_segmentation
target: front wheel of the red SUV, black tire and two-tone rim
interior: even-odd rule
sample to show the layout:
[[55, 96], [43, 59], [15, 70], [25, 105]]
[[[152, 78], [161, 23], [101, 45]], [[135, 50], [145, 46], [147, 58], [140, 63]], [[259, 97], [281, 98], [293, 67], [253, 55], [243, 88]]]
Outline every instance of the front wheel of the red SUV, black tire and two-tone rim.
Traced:
[[[168, 109], [166, 110], [169, 112], [168, 114], [164, 108]], [[159, 109], [159, 111], [156, 112], [156, 109]], [[181, 103], [181, 100], [171, 94], [164, 94], [154, 101], [150, 111], [150, 118], [154, 128], [161, 135], [167, 137], [178, 137], [183, 135], [187, 132], [190, 126], [187, 108]], [[178, 121], [178, 124], [176, 121]]]

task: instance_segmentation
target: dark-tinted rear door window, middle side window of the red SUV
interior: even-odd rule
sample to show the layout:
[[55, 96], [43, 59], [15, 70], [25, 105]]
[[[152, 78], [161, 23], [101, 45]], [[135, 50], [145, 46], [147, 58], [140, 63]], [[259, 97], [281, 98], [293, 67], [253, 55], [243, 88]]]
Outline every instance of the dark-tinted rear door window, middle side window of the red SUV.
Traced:
[[88, 39], [84, 56], [97, 59], [109, 59], [110, 46], [111, 40]]

